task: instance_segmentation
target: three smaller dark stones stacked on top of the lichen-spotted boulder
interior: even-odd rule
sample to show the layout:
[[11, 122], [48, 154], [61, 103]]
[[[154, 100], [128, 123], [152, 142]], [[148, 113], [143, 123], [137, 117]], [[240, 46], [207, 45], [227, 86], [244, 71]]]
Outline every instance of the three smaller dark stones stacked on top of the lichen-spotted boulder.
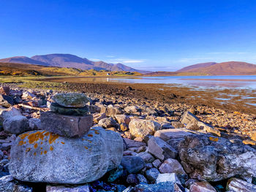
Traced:
[[53, 96], [50, 112], [41, 113], [42, 127], [62, 137], [81, 137], [93, 124], [87, 103], [82, 93], [59, 93]]

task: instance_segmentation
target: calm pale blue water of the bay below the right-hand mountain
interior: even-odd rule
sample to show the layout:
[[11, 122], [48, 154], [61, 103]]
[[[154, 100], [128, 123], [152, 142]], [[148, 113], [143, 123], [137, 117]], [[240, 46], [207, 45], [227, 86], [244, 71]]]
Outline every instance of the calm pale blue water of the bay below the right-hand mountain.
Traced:
[[[165, 77], [107, 77], [107, 82], [164, 83], [198, 88], [256, 89], [256, 75], [251, 76], [165, 76]], [[104, 81], [104, 80], [103, 80]]]

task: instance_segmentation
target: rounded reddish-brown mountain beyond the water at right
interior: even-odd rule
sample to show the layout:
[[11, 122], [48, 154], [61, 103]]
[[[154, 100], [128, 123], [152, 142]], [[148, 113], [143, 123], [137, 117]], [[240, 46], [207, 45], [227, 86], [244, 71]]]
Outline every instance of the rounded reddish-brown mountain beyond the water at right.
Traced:
[[240, 61], [211, 62], [187, 66], [177, 72], [192, 72], [208, 75], [252, 75], [256, 74], [256, 65]]

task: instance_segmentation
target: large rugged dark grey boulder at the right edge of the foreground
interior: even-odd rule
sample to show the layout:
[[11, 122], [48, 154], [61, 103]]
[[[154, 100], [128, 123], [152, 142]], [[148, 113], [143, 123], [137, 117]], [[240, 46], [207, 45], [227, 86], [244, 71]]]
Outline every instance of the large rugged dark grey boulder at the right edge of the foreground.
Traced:
[[256, 174], [256, 150], [242, 142], [196, 135], [186, 137], [178, 149], [181, 164], [191, 178], [219, 181]]

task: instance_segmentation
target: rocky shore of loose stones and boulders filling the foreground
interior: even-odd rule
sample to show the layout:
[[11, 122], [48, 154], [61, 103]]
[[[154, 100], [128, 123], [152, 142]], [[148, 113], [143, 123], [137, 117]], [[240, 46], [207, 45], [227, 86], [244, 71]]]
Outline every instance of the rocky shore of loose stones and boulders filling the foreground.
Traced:
[[0, 106], [0, 191], [256, 191], [255, 115], [6, 86]]

